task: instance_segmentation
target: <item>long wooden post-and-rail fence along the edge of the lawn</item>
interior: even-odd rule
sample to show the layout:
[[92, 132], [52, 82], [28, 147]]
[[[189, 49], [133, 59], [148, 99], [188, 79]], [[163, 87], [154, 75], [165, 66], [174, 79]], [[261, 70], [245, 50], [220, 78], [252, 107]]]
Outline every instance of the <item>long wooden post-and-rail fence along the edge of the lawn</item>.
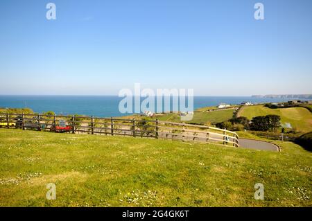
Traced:
[[204, 125], [173, 123], [156, 120], [123, 118], [99, 118], [94, 116], [61, 116], [44, 114], [0, 114], [1, 127], [23, 130], [51, 130], [66, 121], [68, 132], [82, 134], [105, 134], [141, 136], [155, 139], [177, 139], [219, 143], [239, 147], [239, 136], [232, 131]]

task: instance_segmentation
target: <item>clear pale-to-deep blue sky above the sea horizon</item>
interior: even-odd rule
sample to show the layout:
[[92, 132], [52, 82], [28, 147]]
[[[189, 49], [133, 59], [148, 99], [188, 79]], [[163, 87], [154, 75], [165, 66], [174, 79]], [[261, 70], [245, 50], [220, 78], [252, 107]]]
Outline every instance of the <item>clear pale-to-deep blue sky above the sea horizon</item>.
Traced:
[[3, 0], [0, 94], [117, 95], [136, 82], [206, 96], [312, 94], [311, 10], [310, 0]]

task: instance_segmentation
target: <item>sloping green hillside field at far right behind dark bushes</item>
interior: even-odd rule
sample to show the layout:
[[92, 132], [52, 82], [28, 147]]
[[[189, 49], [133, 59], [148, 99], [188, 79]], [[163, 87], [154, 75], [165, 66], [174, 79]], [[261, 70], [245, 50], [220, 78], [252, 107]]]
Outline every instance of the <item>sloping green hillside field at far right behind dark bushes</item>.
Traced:
[[277, 114], [281, 116], [281, 123], [291, 123], [291, 127], [300, 132], [310, 132], [312, 130], [312, 114], [304, 107], [289, 107], [270, 109], [263, 105], [244, 106], [239, 111], [239, 116], [252, 119], [254, 116], [265, 116]]

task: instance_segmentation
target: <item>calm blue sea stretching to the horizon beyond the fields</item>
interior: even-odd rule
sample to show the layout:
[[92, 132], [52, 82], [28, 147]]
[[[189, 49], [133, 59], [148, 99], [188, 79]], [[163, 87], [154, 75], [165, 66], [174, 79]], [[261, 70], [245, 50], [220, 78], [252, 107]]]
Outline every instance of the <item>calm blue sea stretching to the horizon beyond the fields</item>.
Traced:
[[[121, 113], [119, 103], [123, 98], [119, 96], [17, 96], [0, 95], [0, 108], [24, 108], [33, 109], [34, 112], [42, 113], [53, 111], [55, 114], [86, 116], [116, 117], [132, 113]], [[141, 98], [144, 100], [145, 98]], [[172, 98], [171, 98], [172, 100]], [[193, 107], [216, 106], [220, 103], [230, 105], [251, 103], [277, 103], [286, 102], [292, 98], [255, 98], [251, 96], [194, 96]]]

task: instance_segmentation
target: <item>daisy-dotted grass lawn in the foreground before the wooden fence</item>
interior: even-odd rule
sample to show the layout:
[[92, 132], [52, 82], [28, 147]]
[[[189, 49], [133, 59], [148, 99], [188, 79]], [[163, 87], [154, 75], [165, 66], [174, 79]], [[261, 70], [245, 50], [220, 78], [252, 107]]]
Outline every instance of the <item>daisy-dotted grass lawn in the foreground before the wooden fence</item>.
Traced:
[[[0, 129], [0, 206], [312, 206], [312, 153]], [[46, 184], [56, 200], [46, 200]], [[265, 199], [254, 200], [262, 183]]]

